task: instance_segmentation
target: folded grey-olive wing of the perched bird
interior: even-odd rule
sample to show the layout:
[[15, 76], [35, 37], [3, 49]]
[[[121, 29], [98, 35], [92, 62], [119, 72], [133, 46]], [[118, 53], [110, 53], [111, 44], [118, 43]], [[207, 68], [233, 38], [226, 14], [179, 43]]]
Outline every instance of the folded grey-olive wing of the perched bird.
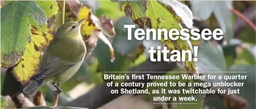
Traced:
[[37, 71], [38, 73], [32, 76], [30, 78], [30, 81], [38, 81], [43, 78], [59, 74], [71, 68], [72, 66], [76, 65], [80, 61], [74, 60], [72, 64], [69, 64], [64, 60], [61, 60], [57, 56], [51, 56], [51, 55], [45, 54], [42, 56], [41, 62], [39, 64], [39, 69]]

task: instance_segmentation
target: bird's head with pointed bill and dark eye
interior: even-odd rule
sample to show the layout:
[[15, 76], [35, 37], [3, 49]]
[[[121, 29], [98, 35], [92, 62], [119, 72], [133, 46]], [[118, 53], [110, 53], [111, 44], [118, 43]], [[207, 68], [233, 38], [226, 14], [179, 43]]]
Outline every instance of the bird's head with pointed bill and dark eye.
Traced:
[[85, 20], [82, 19], [80, 21], [69, 21], [60, 26], [57, 30], [55, 37], [63, 38], [63, 36], [67, 38], [78, 38], [81, 36], [80, 29], [82, 22]]

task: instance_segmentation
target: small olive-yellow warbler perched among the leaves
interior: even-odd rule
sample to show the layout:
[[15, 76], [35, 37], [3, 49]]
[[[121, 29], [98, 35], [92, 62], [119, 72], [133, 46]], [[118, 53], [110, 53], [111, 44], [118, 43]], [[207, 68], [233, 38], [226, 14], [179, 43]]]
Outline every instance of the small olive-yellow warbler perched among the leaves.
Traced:
[[43, 52], [38, 69], [24, 88], [24, 93], [34, 96], [41, 86], [50, 82], [57, 89], [53, 91], [54, 94], [62, 92], [56, 83], [70, 79], [84, 62], [86, 45], [80, 33], [84, 20], [65, 22], [59, 27]]

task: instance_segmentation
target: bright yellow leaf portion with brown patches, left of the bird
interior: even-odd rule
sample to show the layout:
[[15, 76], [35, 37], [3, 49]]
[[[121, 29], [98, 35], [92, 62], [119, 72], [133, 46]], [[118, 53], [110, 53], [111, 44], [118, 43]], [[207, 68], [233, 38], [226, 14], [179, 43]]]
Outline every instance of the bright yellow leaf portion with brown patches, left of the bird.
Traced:
[[49, 33], [42, 33], [35, 26], [30, 26], [32, 38], [26, 45], [24, 55], [13, 69], [13, 74], [18, 81], [26, 84], [30, 77], [33, 76], [38, 68], [41, 52], [45, 50], [53, 37]]

